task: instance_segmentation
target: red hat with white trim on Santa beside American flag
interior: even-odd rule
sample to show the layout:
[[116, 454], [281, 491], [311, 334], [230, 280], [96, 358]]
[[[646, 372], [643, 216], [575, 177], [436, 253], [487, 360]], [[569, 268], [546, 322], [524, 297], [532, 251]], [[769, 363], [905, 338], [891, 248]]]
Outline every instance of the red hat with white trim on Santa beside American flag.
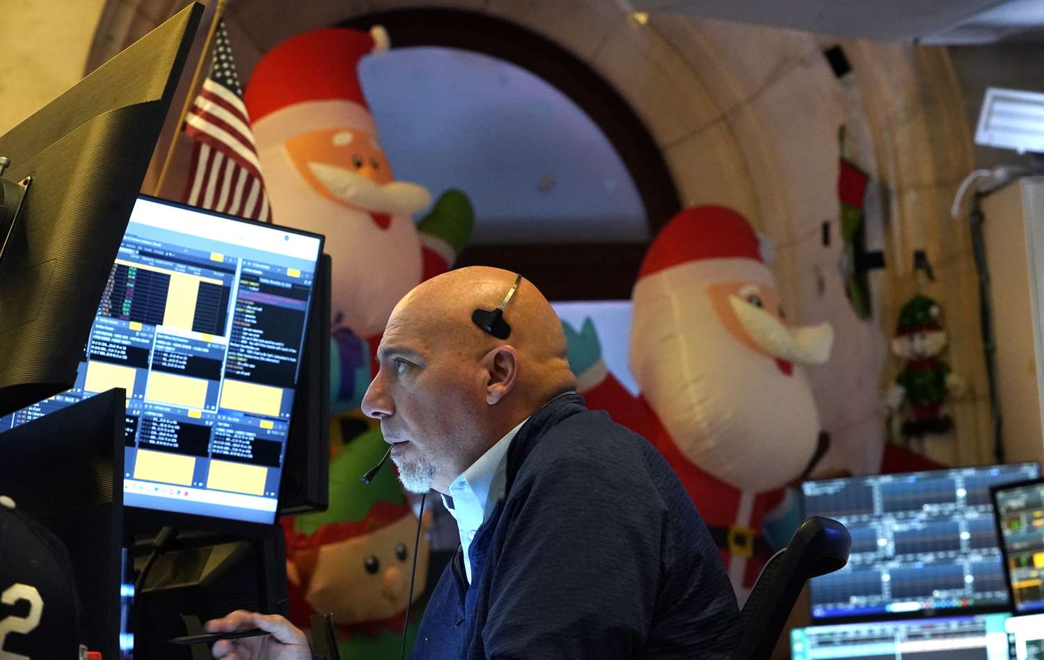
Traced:
[[258, 146], [300, 132], [303, 125], [375, 132], [358, 67], [363, 56], [387, 48], [387, 32], [374, 26], [370, 32], [348, 28], [303, 32], [266, 52], [243, 91]]

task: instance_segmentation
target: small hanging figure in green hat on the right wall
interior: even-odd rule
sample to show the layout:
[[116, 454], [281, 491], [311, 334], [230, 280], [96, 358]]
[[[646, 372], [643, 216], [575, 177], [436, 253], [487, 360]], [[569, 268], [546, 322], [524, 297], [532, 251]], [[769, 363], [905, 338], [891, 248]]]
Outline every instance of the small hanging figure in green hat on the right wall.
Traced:
[[942, 309], [927, 296], [914, 296], [899, 312], [892, 352], [905, 362], [885, 397], [889, 413], [906, 404], [908, 416], [902, 425], [906, 438], [944, 434], [953, 427], [953, 419], [942, 414], [942, 406], [950, 392], [959, 395], [965, 383], [940, 358], [945, 348]]

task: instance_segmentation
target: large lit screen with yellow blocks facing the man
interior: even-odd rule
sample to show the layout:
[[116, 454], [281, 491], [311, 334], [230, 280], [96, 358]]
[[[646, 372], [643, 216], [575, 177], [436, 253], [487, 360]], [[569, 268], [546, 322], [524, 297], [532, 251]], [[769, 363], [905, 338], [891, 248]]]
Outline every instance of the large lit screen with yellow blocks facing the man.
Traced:
[[275, 521], [322, 237], [141, 197], [73, 389], [127, 391], [123, 503]]

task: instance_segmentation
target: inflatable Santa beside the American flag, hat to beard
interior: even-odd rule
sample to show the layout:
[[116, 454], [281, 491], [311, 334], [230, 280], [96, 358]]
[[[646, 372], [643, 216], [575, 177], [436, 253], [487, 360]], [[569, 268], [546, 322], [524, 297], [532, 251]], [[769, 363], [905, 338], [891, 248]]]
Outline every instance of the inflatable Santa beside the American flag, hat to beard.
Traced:
[[334, 318], [364, 338], [422, 276], [450, 266], [471, 230], [466, 218], [419, 231], [410, 217], [431, 197], [395, 180], [357, 75], [359, 59], [387, 47], [381, 27], [304, 32], [265, 53], [243, 93], [272, 216], [326, 236]]

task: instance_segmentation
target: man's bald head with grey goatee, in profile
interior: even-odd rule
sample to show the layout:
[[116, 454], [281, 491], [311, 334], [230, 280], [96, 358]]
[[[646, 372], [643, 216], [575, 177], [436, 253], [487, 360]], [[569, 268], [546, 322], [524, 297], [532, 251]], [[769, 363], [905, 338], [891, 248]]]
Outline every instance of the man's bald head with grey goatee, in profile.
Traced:
[[393, 459], [404, 483], [428, 461], [431, 483], [443, 490], [512, 427], [575, 388], [562, 324], [528, 280], [504, 309], [506, 339], [472, 321], [476, 309], [497, 309], [516, 277], [497, 268], [453, 270], [419, 285], [393, 310], [363, 411], [400, 444]]

